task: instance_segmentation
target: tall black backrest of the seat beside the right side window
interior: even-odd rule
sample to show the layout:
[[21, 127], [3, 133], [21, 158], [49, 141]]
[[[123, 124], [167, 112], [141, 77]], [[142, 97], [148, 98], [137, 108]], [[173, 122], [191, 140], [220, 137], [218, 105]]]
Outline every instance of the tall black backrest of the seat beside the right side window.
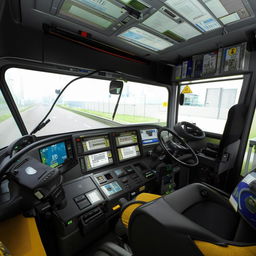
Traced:
[[230, 108], [222, 139], [220, 141], [218, 152], [219, 156], [221, 156], [224, 153], [224, 150], [228, 145], [238, 141], [241, 138], [245, 120], [245, 105], [236, 104]]

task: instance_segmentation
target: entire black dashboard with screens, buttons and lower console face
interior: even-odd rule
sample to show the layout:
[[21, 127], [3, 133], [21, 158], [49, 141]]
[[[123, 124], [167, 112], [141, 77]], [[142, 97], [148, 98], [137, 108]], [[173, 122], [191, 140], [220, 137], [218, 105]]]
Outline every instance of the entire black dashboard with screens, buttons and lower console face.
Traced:
[[[42, 182], [47, 182], [56, 168], [60, 173], [61, 186], [51, 197], [58, 205], [51, 208], [51, 225], [57, 234], [60, 255], [72, 255], [105, 232], [108, 223], [118, 216], [121, 198], [129, 201], [142, 192], [165, 193], [157, 189], [169, 189], [171, 177], [159, 176], [164, 163], [159, 154], [155, 157], [160, 147], [160, 128], [140, 125], [74, 132], [42, 138], [29, 149], [24, 148], [26, 154], [18, 166], [29, 165], [33, 159], [39, 161], [49, 168], [47, 175], [44, 170], [38, 173]], [[38, 164], [34, 164], [36, 168]], [[26, 175], [32, 169], [25, 168]], [[19, 173], [25, 182], [26, 175]], [[32, 191], [32, 195], [42, 199], [36, 207], [43, 215], [49, 209], [43, 200], [44, 191]]]

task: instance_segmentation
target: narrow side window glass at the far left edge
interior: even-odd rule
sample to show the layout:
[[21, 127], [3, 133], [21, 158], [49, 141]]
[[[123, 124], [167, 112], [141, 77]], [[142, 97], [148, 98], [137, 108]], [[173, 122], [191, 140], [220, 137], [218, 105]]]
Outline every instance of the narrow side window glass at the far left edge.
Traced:
[[[21, 111], [24, 111], [24, 109], [21, 109]], [[0, 92], [0, 148], [6, 147], [20, 136], [18, 126]]]

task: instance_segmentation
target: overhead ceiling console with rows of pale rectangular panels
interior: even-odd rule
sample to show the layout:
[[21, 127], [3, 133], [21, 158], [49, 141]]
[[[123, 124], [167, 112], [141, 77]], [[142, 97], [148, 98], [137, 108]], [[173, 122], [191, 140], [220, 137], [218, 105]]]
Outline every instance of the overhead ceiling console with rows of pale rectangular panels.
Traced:
[[[161, 53], [188, 40], [246, 21], [253, 22], [252, 0], [44, 0], [31, 2], [32, 10], [49, 16], [67, 32], [81, 31], [84, 38], [133, 53]], [[27, 5], [29, 6], [29, 5]], [[31, 23], [23, 8], [23, 22]], [[37, 22], [37, 21], [35, 21]], [[69, 28], [67, 27], [69, 22]], [[40, 24], [41, 25], [41, 24]], [[216, 34], [216, 33], [215, 33]], [[104, 40], [105, 39], [105, 40]], [[110, 41], [109, 41], [110, 44]], [[115, 48], [115, 49], [116, 49]]]

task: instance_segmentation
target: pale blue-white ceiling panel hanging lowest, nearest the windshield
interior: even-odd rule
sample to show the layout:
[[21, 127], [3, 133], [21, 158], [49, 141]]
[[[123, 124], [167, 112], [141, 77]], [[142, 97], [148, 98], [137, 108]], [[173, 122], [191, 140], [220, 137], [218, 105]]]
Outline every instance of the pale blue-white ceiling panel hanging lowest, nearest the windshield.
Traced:
[[155, 52], [162, 51], [168, 47], [173, 46], [171, 42], [168, 42], [137, 27], [128, 29], [118, 37]]

